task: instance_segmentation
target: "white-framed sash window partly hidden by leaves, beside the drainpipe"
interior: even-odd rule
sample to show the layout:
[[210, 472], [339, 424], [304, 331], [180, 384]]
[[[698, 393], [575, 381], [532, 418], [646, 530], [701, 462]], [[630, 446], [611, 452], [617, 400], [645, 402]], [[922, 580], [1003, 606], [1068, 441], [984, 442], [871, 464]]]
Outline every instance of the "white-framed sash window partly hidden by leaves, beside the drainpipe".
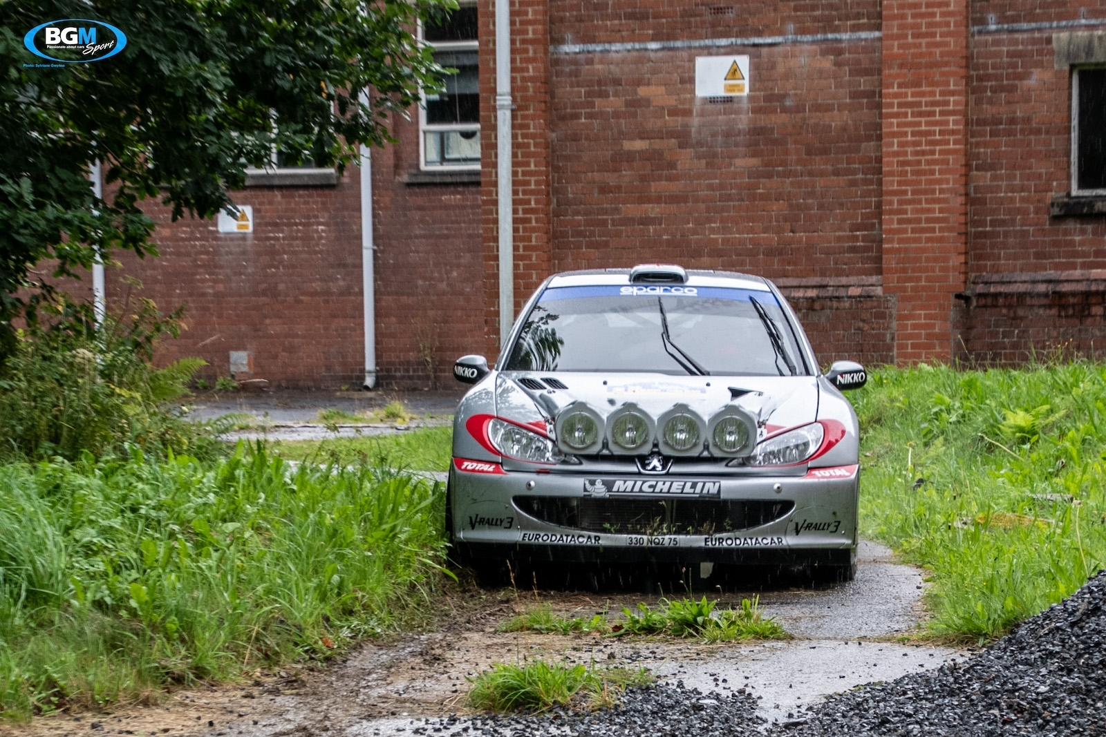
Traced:
[[455, 74], [445, 88], [422, 95], [419, 143], [424, 169], [480, 168], [480, 87], [477, 7], [462, 3], [448, 15], [422, 24], [422, 41], [434, 60]]

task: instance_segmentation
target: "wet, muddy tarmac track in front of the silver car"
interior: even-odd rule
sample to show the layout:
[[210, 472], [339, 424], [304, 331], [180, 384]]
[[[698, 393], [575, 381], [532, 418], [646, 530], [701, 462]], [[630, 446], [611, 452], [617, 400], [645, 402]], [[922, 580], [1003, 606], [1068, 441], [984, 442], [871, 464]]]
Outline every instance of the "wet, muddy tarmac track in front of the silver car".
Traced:
[[[646, 666], [658, 681], [723, 696], [744, 689], [772, 724], [787, 723], [803, 707], [857, 685], [962, 660], [967, 653], [908, 644], [901, 635], [924, 618], [921, 572], [895, 562], [883, 546], [862, 541], [856, 580], [826, 589], [726, 592], [723, 603], [759, 593], [765, 614], [779, 619], [793, 640], [706, 644], [675, 638], [601, 638], [497, 633], [513, 612], [536, 602], [566, 615], [617, 612], [659, 596], [640, 592], [480, 591], [467, 589], [448, 604], [437, 632], [393, 643], [366, 642], [327, 666], [254, 671], [252, 682], [180, 691], [168, 704], [114, 707], [96, 718], [112, 734], [164, 733], [198, 737], [386, 737], [410, 735], [424, 719], [457, 714], [449, 733], [474, 725], [465, 706], [467, 677], [493, 662], [532, 659], [568, 663]], [[463, 599], [462, 597], [467, 597]], [[432, 729], [432, 727], [431, 727]], [[36, 718], [27, 728], [0, 731], [76, 737], [88, 726], [61, 716]], [[97, 730], [98, 731], [98, 730]], [[445, 730], [444, 730], [445, 731]]]

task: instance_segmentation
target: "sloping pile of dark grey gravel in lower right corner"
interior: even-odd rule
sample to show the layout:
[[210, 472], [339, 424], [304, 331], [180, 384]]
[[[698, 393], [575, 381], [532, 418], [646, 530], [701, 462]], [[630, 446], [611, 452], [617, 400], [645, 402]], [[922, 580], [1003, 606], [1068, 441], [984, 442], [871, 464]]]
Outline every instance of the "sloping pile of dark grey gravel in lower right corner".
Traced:
[[1106, 571], [962, 663], [835, 696], [774, 734], [1106, 735]]

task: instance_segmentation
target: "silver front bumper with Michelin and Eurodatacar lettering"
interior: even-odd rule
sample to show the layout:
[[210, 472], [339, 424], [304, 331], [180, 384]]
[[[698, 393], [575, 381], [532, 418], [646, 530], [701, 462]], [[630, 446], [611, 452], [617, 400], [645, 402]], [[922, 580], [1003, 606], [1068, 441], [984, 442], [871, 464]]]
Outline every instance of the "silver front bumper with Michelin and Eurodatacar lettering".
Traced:
[[[837, 565], [847, 562], [856, 548], [858, 473], [857, 465], [848, 465], [812, 468], [804, 476], [637, 474], [599, 480], [455, 460], [449, 478], [453, 541], [458, 552], [476, 558], [522, 554], [535, 560], [597, 562]], [[632, 525], [619, 524], [617, 512], [634, 505], [678, 508], [682, 516], [654, 529], [641, 524], [627, 529]], [[738, 510], [738, 523], [702, 524], [697, 514], [707, 505]], [[606, 517], [573, 509], [602, 509]], [[601, 524], [604, 519], [616, 522]], [[693, 524], [676, 524], [687, 520]]]

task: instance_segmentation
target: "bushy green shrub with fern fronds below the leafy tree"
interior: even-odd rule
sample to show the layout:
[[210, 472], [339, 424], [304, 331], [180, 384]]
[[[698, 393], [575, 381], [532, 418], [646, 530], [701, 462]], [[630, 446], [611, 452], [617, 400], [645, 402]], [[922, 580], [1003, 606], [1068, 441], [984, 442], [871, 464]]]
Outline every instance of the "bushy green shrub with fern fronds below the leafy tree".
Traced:
[[205, 428], [170, 406], [204, 361], [150, 365], [159, 340], [178, 334], [179, 310], [160, 315], [148, 299], [127, 298], [123, 307], [97, 325], [91, 305], [39, 304], [41, 319], [29, 319], [0, 356], [0, 459], [74, 460], [83, 451], [124, 453], [135, 444], [218, 454]]

